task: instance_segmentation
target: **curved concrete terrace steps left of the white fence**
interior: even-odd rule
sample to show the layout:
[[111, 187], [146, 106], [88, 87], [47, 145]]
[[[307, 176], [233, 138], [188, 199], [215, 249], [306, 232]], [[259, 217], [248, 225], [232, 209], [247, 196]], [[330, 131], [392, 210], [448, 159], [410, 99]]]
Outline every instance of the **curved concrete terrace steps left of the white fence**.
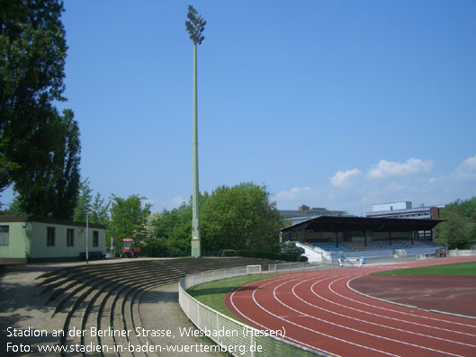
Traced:
[[[145, 344], [147, 337], [133, 332], [141, 327], [139, 303], [148, 290], [179, 281], [187, 274], [249, 264], [267, 267], [274, 261], [255, 258], [202, 258], [135, 260], [124, 263], [87, 264], [47, 272], [39, 279], [39, 295], [53, 309], [51, 317], [62, 319], [64, 330], [85, 330], [85, 335], [65, 336], [59, 344], [114, 344], [127, 347]], [[128, 336], [90, 336], [91, 327], [98, 330], [131, 330]], [[98, 353], [96, 353], [98, 354]], [[103, 354], [103, 353], [99, 353]], [[107, 355], [129, 356], [127, 351]], [[89, 355], [89, 353], [88, 353]], [[105, 355], [105, 354], [103, 354]], [[146, 353], [134, 353], [145, 356]]]

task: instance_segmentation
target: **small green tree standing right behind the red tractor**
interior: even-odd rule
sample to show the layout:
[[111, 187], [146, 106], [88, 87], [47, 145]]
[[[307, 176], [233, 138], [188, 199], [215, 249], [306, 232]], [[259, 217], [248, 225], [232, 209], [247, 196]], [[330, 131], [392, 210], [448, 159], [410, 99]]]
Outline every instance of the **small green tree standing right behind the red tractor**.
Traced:
[[116, 241], [116, 253], [121, 252], [122, 239], [135, 238], [139, 228], [143, 227], [150, 215], [150, 204], [142, 207], [144, 197], [133, 194], [127, 199], [112, 195], [111, 223], [108, 227], [108, 236]]

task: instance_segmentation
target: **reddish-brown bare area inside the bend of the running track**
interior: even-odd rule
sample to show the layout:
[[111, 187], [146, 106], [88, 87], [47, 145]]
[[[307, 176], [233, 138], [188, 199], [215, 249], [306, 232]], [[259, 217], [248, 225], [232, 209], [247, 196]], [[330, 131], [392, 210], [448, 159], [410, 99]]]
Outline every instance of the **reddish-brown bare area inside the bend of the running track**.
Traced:
[[476, 276], [366, 275], [350, 286], [374, 298], [476, 317]]

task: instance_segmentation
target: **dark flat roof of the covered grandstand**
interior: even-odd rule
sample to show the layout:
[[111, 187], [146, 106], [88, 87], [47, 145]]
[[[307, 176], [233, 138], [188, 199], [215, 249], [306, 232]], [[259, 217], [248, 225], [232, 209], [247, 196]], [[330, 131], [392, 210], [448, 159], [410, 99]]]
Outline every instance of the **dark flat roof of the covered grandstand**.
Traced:
[[386, 219], [369, 217], [319, 216], [281, 229], [283, 232], [295, 230], [343, 232], [351, 230], [372, 230], [374, 232], [406, 232], [431, 230], [444, 219]]

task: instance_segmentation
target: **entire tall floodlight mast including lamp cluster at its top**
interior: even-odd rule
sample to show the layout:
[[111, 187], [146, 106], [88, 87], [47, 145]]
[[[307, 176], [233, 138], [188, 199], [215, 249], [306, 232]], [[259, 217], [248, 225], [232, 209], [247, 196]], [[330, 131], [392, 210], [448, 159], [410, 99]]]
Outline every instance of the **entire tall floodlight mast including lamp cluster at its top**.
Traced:
[[198, 109], [197, 109], [197, 44], [202, 44], [205, 39], [202, 31], [207, 23], [202, 16], [193, 8], [188, 6], [185, 27], [193, 40], [193, 192], [192, 192], [192, 256], [199, 258], [202, 255], [200, 242], [200, 203], [198, 190]]

